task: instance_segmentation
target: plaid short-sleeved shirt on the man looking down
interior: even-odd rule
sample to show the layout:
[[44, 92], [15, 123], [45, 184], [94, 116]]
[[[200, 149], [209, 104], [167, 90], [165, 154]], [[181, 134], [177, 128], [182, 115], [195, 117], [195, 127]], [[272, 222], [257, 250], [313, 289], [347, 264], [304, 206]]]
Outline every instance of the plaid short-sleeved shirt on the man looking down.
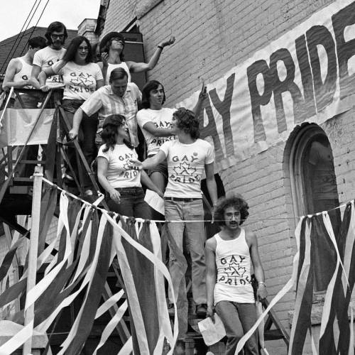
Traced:
[[111, 85], [100, 87], [84, 104], [82, 111], [87, 116], [92, 116], [99, 111], [99, 128], [102, 127], [104, 119], [111, 114], [121, 114], [126, 117], [129, 127], [129, 136], [133, 146], [138, 146], [137, 119], [138, 103], [141, 102], [142, 94], [136, 84], [129, 82], [123, 97], [112, 92]]

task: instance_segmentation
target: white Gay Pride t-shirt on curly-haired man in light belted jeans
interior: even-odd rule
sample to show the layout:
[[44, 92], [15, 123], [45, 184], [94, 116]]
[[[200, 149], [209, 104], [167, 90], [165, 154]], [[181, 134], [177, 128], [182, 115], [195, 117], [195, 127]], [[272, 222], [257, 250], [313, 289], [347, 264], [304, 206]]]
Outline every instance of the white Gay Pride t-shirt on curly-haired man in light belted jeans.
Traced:
[[214, 162], [214, 151], [207, 141], [194, 143], [168, 141], [160, 147], [168, 160], [168, 185], [165, 197], [200, 198], [204, 165]]

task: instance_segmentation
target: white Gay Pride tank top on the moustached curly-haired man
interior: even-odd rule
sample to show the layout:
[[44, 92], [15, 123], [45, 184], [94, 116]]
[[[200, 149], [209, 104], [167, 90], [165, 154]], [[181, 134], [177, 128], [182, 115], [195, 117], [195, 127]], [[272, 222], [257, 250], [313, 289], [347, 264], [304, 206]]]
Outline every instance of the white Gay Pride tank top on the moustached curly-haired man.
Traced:
[[224, 241], [219, 234], [214, 238], [217, 244], [214, 305], [219, 301], [255, 303], [250, 275], [251, 258], [244, 229], [233, 240]]

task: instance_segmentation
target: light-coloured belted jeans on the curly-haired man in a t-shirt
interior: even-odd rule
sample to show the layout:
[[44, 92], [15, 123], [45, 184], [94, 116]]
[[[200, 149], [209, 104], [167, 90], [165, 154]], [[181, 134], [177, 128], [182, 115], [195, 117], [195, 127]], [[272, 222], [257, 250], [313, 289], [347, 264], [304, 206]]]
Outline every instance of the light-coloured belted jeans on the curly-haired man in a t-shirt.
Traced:
[[[204, 209], [202, 199], [191, 202], [170, 201], [165, 199], [165, 219], [181, 221], [168, 223], [171, 236], [180, 251], [183, 251], [185, 231], [187, 250], [190, 251], [192, 262], [192, 297], [196, 305], [207, 303], [206, 299], [206, 264], [204, 263]], [[184, 222], [184, 221], [196, 222]], [[173, 280], [175, 296], [178, 295], [179, 284], [174, 283], [179, 275], [179, 264], [173, 253], [169, 254], [169, 271]], [[184, 278], [185, 280], [185, 278]]]

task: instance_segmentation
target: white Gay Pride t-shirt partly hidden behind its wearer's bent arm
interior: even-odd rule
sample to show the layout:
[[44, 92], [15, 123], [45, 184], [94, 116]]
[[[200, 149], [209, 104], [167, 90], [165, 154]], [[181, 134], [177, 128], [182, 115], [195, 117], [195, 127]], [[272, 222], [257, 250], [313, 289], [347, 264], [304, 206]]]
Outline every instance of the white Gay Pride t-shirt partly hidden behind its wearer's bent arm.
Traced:
[[141, 109], [137, 112], [137, 122], [141, 127], [143, 136], [147, 143], [148, 155], [155, 155], [158, 153], [160, 146], [166, 141], [172, 141], [175, 136], [169, 137], [155, 137], [149, 133], [143, 126], [148, 122], [153, 122], [158, 129], [169, 129], [170, 123], [173, 120], [173, 113], [176, 109], [168, 109], [163, 107], [160, 110]]

